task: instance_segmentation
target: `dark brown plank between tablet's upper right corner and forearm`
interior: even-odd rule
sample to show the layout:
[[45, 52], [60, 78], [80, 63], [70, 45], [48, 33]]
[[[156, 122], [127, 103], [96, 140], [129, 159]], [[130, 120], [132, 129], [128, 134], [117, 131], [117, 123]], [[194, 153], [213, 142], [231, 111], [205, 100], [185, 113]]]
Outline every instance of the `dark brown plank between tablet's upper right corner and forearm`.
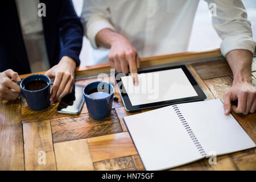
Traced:
[[195, 68], [203, 80], [232, 75], [232, 71], [225, 59], [194, 63], [192, 67]]

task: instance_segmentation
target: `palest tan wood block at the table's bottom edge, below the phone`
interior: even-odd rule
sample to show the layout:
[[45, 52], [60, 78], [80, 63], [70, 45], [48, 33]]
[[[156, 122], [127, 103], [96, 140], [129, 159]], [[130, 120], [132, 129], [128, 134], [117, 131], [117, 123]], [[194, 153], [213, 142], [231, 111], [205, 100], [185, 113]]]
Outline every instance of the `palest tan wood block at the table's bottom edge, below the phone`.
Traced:
[[86, 139], [55, 143], [54, 151], [58, 170], [94, 170]]

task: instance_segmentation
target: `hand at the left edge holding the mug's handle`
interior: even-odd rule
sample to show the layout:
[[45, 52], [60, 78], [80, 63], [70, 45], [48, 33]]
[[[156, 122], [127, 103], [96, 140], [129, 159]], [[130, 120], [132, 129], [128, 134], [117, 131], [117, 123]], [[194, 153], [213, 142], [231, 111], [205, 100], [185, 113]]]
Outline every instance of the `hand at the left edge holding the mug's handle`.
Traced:
[[15, 100], [22, 90], [15, 82], [21, 81], [12, 69], [0, 72], [0, 100]]

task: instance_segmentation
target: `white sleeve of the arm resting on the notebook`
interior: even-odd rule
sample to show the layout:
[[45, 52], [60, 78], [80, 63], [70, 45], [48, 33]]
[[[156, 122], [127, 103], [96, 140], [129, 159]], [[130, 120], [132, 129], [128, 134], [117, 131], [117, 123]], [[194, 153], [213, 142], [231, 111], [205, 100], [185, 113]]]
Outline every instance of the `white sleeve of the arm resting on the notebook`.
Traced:
[[[241, 0], [205, 0], [212, 13], [213, 28], [222, 39], [221, 53], [225, 57], [234, 49], [247, 49], [254, 53], [255, 42], [251, 23], [247, 20]], [[216, 11], [214, 11], [216, 7]]]

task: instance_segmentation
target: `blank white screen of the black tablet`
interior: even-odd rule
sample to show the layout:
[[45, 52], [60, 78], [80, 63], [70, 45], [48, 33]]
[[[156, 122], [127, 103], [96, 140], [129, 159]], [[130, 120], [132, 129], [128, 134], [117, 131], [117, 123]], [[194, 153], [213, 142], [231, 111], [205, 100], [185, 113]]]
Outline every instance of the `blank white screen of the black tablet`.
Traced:
[[134, 86], [131, 75], [121, 77], [133, 106], [198, 96], [181, 68], [141, 73], [138, 78]]

